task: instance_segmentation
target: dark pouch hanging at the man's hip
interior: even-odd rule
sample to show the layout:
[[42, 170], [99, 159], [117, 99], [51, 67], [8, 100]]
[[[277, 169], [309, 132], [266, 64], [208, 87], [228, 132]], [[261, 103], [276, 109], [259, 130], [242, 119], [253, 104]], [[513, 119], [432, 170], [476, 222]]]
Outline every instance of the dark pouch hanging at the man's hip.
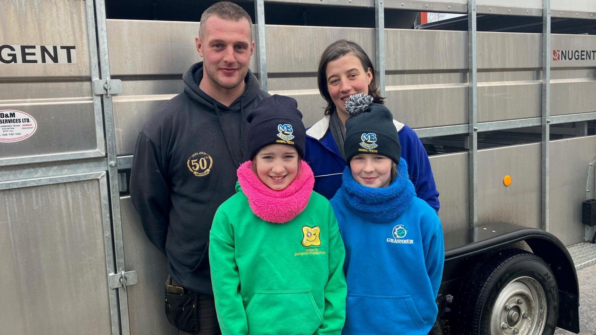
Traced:
[[[167, 283], [171, 283], [170, 277]], [[185, 290], [184, 294], [166, 292], [166, 317], [174, 327], [190, 334], [198, 333], [197, 293]]]

